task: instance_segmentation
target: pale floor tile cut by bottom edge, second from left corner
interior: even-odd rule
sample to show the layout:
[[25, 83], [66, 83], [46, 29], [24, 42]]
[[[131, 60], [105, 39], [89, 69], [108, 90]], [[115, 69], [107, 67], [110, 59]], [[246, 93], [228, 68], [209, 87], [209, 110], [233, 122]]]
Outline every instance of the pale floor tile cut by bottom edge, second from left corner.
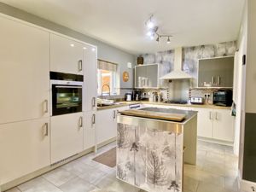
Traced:
[[75, 177], [67, 183], [62, 184], [60, 189], [63, 192], [90, 192], [96, 189], [96, 186], [86, 182], [80, 177]]

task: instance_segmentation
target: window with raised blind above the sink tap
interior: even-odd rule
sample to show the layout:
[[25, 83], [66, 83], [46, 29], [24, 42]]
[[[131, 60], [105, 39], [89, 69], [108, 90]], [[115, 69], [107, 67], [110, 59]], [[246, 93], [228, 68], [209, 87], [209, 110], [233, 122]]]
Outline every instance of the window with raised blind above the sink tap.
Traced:
[[118, 65], [98, 60], [98, 96], [119, 95]]

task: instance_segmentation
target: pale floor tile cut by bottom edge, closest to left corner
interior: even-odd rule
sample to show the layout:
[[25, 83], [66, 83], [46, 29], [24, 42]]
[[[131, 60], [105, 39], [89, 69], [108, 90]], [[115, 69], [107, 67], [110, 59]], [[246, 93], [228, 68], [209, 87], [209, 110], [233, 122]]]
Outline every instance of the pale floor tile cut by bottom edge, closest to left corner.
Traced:
[[61, 189], [58, 189], [43, 177], [36, 177], [31, 181], [22, 183], [18, 186], [18, 189], [22, 192], [61, 192]]

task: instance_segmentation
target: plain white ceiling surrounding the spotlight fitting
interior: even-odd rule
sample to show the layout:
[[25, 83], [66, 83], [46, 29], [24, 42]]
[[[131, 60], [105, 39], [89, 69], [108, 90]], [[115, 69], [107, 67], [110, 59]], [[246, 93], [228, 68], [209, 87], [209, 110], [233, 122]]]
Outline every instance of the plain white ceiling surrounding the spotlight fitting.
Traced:
[[[1, 0], [132, 54], [179, 46], [216, 44], [238, 36], [244, 0]], [[154, 14], [159, 32], [172, 34], [157, 43], [146, 36]]]

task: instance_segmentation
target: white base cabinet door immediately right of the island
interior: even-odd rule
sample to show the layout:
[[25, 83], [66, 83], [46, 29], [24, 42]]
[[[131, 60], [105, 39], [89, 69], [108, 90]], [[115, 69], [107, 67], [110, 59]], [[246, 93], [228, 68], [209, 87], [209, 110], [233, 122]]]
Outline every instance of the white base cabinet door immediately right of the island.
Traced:
[[197, 114], [197, 136], [212, 138], [212, 108], [193, 108]]

